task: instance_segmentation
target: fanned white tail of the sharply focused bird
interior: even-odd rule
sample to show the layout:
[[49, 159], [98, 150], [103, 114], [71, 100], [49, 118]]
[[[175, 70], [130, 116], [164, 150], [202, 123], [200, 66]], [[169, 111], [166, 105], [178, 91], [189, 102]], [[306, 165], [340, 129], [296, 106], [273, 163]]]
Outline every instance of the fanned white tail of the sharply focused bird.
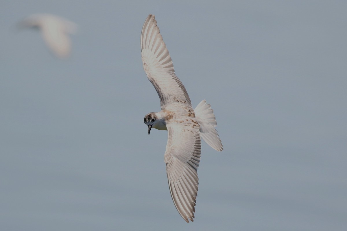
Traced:
[[211, 148], [222, 151], [223, 145], [219, 139], [218, 132], [215, 130], [217, 126], [216, 117], [210, 104], [206, 104], [206, 100], [202, 100], [194, 109], [195, 119], [200, 125], [201, 138], [211, 146]]

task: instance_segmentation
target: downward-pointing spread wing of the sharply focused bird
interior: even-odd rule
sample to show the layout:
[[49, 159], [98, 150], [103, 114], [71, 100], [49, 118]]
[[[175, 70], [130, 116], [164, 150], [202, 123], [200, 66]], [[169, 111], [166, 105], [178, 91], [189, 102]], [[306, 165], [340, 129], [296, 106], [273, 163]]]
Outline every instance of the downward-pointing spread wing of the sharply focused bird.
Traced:
[[196, 122], [172, 122], [164, 160], [172, 201], [186, 222], [193, 221], [198, 191], [197, 168], [200, 162], [201, 138]]

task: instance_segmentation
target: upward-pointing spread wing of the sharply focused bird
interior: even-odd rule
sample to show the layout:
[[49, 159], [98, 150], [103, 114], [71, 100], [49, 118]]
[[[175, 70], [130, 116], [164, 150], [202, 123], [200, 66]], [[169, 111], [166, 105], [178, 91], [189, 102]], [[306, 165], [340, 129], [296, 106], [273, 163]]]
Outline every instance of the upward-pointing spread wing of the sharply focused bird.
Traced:
[[149, 15], [143, 25], [141, 54], [143, 69], [158, 92], [161, 108], [177, 102], [192, 108], [186, 88], [175, 75], [174, 65], [154, 15]]

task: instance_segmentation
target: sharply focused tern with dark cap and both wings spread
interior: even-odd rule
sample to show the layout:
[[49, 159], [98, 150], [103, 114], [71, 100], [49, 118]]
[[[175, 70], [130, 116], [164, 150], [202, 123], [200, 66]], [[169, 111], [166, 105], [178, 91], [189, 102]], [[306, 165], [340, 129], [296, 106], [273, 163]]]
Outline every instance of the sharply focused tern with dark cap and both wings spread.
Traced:
[[148, 134], [151, 128], [168, 131], [164, 161], [170, 194], [178, 213], [189, 223], [195, 212], [201, 139], [213, 149], [223, 150], [215, 130], [217, 122], [206, 100], [193, 109], [186, 88], [175, 74], [154, 15], [149, 15], [143, 25], [141, 54], [143, 69], [159, 95], [161, 106], [160, 112], [147, 114], [144, 123]]

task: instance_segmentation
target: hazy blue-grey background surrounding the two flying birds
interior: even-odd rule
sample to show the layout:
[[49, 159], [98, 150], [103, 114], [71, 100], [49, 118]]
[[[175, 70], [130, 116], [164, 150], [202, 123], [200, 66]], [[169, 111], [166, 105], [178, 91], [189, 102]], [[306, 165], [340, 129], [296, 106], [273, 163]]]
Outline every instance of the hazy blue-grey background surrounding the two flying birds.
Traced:
[[[0, 3], [0, 229], [346, 230], [346, 1]], [[33, 13], [79, 25], [68, 60]], [[195, 107], [206, 99], [223, 152], [206, 143], [195, 221], [171, 200], [167, 132], [140, 34], [158, 20]]]

